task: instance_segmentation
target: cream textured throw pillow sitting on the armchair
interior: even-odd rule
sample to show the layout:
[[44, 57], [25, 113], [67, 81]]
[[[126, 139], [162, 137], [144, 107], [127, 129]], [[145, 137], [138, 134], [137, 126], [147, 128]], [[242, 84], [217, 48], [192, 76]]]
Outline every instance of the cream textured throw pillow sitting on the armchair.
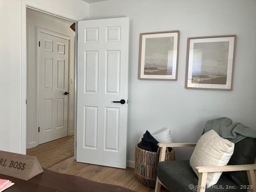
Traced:
[[[227, 139], [220, 137], [214, 130], [210, 130], [203, 134], [198, 140], [194, 152], [190, 158], [190, 166], [197, 176], [198, 166], [223, 166], [228, 164], [233, 152], [235, 144]], [[207, 174], [206, 186], [215, 185], [222, 172], [212, 172]]]

